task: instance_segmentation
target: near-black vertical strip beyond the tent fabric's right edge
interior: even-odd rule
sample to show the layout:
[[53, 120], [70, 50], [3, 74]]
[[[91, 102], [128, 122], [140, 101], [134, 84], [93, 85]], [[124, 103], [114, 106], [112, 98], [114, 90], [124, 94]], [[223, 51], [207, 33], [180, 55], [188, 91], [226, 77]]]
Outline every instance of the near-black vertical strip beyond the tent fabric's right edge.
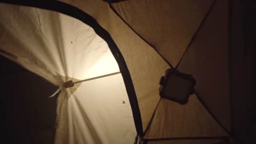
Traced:
[[[255, 143], [255, 97], [252, 50], [255, 47], [255, 3], [232, 1], [230, 18], [230, 82], [232, 131], [244, 143]], [[255, 95], [255, 94], [254, 94]]]

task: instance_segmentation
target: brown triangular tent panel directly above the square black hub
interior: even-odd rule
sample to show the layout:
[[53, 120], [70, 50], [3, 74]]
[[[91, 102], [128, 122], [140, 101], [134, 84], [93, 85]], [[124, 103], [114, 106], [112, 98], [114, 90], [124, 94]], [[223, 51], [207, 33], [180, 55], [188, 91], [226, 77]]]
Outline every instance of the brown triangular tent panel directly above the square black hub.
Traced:
[[174, 67], [214, 0], [129, 0], [111, 4]]

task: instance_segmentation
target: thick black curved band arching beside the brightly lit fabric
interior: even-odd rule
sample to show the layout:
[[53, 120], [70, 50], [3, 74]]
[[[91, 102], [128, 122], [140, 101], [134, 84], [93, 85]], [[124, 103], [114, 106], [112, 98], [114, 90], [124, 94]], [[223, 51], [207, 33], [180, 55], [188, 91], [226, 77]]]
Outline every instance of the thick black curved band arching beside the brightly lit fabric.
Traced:
[[8, 3], [8, 4], [15, 4], [15, 5], [23, 5], [23, 6], [31, 6], [31, 7], [37, 7], [40, 9], [46, 9], [46, 10], [52, 10], [56, 12], [60, 12], [66, 15], [69, 15], [70, 17], [76, 18], [78, 20], [81, 20], [86, 25], [92, 27], [96, 34], [98, 34], [102, 39], [104, 39], [113, 54], [114, 58], [116, 59], [120, 72], [124, 79], [124, 84], [126, 88], [127, 95], [129, 97], [133, 119], [135, 128], [137, 131], [137, 134], [142, 137], [143, 135], [143, 128], [142, 128], [142, 120], [140, 115], [140, 109], [138, 105], [137, 96], [134, 90], [134, 86], [132, 83], [132, 78], [129, 72], [129, 69], [127, 68], [126, 62], [123, 58], [122, 53], [118, 49], [117, 45], [115, 44], [113, 38], [109, 35], [109, 33], [102, 28], [99, 23], [91, 17], [91, 15], [85, 13], [84, 11], [78, 9], [75, 6], [59, 2], [59, 1], [6, 1], [6, 0], [0, 0], [0, 2]]

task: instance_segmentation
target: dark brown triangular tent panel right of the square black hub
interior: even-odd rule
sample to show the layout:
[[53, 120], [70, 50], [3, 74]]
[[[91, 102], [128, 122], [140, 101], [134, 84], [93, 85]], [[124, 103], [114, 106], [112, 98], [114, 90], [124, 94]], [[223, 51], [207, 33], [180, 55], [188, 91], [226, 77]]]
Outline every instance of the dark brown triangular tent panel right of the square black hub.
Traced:
[[228, 1], [217, 1], [179, 70], [196, 78], [196, 90], [206, 106], [230, 129]]

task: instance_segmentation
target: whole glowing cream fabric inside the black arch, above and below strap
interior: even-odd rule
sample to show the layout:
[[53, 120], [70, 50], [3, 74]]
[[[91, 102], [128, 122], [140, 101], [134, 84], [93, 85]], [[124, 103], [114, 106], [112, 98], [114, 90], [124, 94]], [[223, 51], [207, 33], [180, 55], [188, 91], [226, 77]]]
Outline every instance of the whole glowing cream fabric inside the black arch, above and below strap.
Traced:
[[58, 12], [9, 4], [0, 4], [0, 18], [0, 53], [60, 85], [55, 143], [133, 142], [121, 74], [62, 86], [119, 71], [107, 43], [91, 27]]

